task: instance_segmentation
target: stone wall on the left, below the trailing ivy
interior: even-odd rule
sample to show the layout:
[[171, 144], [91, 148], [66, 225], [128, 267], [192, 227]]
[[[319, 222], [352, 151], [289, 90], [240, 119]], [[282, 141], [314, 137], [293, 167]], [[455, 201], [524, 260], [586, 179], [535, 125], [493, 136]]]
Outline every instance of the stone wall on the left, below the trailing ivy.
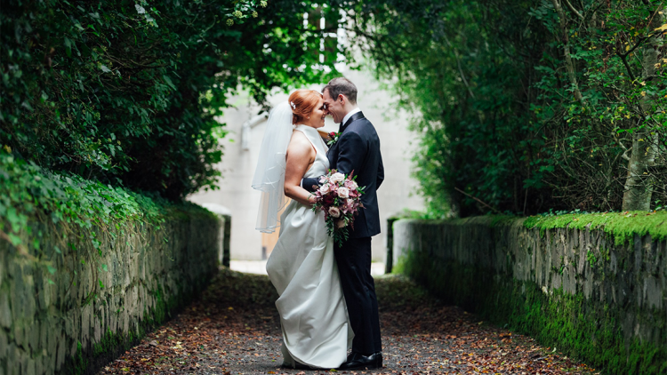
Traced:
[[217, 270], [220, 222], [203, 209], [159, 225], [32, 228], [45, 240], [29, 255], [0, 240], [0, 375], [93, 373]]

